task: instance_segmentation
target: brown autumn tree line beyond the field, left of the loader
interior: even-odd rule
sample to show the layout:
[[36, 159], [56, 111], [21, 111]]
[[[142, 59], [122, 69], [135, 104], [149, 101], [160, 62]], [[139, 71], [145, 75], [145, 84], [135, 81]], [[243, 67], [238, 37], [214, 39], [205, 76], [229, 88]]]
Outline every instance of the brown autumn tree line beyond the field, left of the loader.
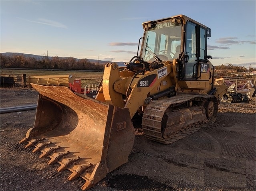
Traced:
[[40, 59], [20, 54], [10, 56], [0, 54], [1, 68], [26, 68], [26, 69], [64, 69], [64, 70], [96, 70], [103, 71], [104, 64], [91, 63], [88, 59], [75, 59], [73, 57], [60, 58], [53, 56], [50, 59], [42, 55]]

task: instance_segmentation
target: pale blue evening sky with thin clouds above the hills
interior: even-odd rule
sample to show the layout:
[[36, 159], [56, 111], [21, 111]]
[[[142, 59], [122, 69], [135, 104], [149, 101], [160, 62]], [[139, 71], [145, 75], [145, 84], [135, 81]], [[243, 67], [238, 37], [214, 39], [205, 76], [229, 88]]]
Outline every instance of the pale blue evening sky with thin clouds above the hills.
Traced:
[[142, 23], [179, 14], [211, 28], [213, 65], [256, 68], [256, 0], [0, 0], [0, 52], [128, 62]]

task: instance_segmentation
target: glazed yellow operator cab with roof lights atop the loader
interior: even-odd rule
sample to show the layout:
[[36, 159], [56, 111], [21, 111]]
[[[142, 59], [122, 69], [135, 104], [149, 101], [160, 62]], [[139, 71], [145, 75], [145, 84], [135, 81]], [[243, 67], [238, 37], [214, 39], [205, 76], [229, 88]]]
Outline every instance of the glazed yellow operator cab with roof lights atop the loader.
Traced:
[[140, 58], [147, 63], [173, 62], [178, 59], [179, 81], [209, 80], [207, 37], [210, 28], [184, 15], [142, 24], [143, 45]]

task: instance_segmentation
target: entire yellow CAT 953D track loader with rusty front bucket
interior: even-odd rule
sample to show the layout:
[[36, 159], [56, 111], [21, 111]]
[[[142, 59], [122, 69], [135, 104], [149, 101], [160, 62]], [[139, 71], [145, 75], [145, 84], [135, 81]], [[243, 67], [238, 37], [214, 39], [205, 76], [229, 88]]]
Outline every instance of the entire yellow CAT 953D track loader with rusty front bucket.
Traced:
[[128, 161], [133, 119], [141, 119], [150, 140], [171, 144], [213, 123], [226, 94], [225, 85], [214, 85], [210, 28], [184, 15], [142, 25], [137, 55], [123, 66], [105, 65], [95, 99], [32, 84], [39, 92], [36, 118], [20, 144], [59, 163], [57, 171], [70, 170], [69, 180], [85, 179], [83, 190]]

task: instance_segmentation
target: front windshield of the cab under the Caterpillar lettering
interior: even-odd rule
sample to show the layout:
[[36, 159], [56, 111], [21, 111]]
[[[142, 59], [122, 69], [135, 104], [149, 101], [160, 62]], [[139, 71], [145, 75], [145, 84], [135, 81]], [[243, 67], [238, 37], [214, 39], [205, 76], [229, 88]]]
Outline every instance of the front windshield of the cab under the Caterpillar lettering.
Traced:
[[179, 57], [181, 43], [181, 25], [172, 26], [170, 22], [161, 22], [153, 30], [145, 32], [141, 58], [147, 62], [170, 61]]

